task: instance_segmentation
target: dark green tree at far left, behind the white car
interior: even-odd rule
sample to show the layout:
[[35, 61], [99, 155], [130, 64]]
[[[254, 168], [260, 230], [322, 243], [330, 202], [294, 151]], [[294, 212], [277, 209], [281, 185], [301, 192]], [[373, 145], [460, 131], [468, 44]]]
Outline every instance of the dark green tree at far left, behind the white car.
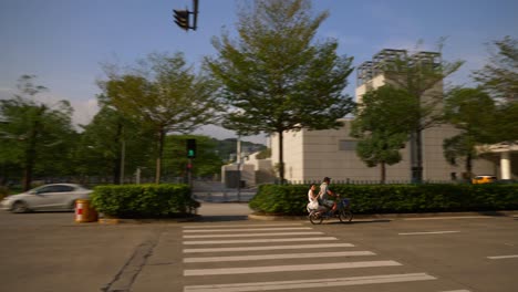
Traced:
[[70, 158], [74, 135], [70, 103], [60, 101], [48, 105], [37, 102], [34, 97], [46, 88], [34, 85], [34, 75], [22, 75], [18, 81], [20, 93], [11, 100], [0, 101], [1, 146], [9, 153], [10, 161], [23, 168], [24, 190], [30, 189], [37, 167], [40, 173], [50, 174], [49, 169], [55, 170], [60, 161]]

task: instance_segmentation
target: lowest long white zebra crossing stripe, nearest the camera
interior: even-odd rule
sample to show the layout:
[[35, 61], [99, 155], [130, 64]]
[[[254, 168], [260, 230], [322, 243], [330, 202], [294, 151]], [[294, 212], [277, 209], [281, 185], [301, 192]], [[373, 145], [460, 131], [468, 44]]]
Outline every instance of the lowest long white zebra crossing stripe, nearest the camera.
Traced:
[[382, 284], [412, 281], [436, 280], [437, 278], [426, 273], [406, 273], [406, 274], [381, 274], [367, 277], [348, 277], [332, 279], [299, 280], [299, 281], [273, 281], [273, 282], [253, 282], [237, 284], [213, 284], [213, 285], [191, 285], [185, 286], [184, 292], [251, 292], [269, 290], [289, 290], [327, 286], [348, 286], [364, 284]]

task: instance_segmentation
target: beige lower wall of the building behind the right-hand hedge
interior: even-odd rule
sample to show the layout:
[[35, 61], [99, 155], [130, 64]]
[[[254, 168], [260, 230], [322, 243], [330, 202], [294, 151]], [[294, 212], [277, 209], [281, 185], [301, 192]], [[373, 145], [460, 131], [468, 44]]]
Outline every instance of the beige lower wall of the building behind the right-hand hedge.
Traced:
[[[329, 176], [334, 180], [380, 180], [380, 167], [367, 167], [355, 153], [355, 148], [344, 148], [341, 144], [353, 143], [349, 136], [352, 119], [343, 119], [345, 126], [340, 129], [300, 131], [284, 134], [286, 179], [290, 181], [320, 181]], [[449, 181], [452, 173], [462, 178], [464, 164], [452, 166], [444, 158], [443, 140], [457, 133], [452, 126], [428, 128], [423, 133], [424, 180]], [[272, 163], [278, 163], [278, 137], [272, 136]], [[410, 147], [401, 150], [403, 160], [387, 166], [387, 181], [410, 181]], [[486, 159], [474, 163], [475, 174], [494, 174], [495, 166]]]

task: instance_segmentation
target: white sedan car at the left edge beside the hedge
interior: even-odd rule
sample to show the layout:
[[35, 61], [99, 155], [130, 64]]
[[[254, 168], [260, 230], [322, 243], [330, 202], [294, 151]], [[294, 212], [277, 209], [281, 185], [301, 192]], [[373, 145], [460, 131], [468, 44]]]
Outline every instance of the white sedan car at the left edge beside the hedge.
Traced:
[[11, 212], [74, 210], [75, 200], [89, 199], [92, 190], [74, 184], [44, 185], [3, 198], [1, 208]]

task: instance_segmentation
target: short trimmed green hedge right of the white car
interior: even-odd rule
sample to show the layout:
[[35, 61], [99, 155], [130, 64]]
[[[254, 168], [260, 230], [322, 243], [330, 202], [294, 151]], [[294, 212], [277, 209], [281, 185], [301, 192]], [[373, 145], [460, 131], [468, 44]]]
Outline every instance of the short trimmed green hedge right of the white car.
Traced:
[[176, 217], [199, 207], [187, 185], [99, 186], [91, 200], [97, 212], [116, 218]]

